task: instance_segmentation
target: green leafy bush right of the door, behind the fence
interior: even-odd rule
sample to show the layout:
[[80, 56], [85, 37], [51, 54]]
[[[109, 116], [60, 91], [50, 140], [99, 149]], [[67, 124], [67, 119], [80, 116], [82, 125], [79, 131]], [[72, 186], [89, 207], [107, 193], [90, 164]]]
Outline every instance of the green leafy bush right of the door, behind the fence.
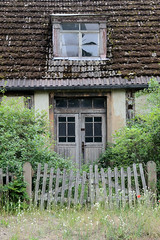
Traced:
[[[132, 163], [154, 161], [160, 174], [160, 86], [152, 79], [147, 90], [139, 95], [148, 94], [151, 106], [149, 113], [138, 115], [114, 136], [113, 146], [107, 146], [100, 157], [103, 167], [129, 166]], [[160, 187], [159, 187], [160, 188]]]

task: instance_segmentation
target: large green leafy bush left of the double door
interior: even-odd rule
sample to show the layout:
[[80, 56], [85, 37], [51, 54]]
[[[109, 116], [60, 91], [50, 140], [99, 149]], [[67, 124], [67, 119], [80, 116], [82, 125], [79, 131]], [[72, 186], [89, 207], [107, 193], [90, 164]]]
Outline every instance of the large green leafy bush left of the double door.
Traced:
[[36, 170], [37, 163], [48, 163], [55, 168], [70, 168], [71, 162], [64, 160], [51, 150], [49, 123], [45, 113], [24, 107], [22, 98], [3, 99], [0, 105], [0, 167], [9, 171], [22, 171], [28, 161]]

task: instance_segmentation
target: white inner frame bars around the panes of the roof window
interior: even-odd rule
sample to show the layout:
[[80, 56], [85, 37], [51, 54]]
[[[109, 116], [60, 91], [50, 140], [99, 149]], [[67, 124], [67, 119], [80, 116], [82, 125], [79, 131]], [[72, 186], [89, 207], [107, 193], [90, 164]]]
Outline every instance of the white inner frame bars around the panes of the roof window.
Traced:
[[[63, 33], [77, 33], [78, 34], [78, 47], [79, 47], [79, 51], [78, 51], [78, 58], [97, 58], [99, 57], [100, 53], [99, 53], [99, 30], [81, 30], [81, 24], [82, 23], [78, 23], [76, 22], [78, 25], [79, 25], [79, 30], [63, 30], [61, 29], [60, 30], [60, 49], [61, 49], [61, 56], [62, 56], [62, 35]], [[88, 24], [89, 22], [85, 22], [85, 24]], [[99, 23], [93, 23], [93, 24], [98, 24]], [[100, 26], [99, 26], [100, 28]], [[96, 33], [98, 34], [98, 56], [82, 56], [82, 34], [83, 33], [90, 33], [90, 34], [93, 34], [93, 33]], [[66, 58], [65, 56], [62, 56], [63, 58]], [[75, 58], [77, 58], [75, 57]], [[74, 57], [67, 57], [67, 58], [74, 58]]]

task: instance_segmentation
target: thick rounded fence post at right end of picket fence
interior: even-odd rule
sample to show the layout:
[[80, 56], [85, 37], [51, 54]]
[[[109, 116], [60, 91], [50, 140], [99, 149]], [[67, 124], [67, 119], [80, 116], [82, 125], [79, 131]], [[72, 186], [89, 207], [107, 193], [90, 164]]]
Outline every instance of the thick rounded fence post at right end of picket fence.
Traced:
[[157, 171], [156, 164], [153, 161], [147, 162], [147, 173], [148, 173], [148, 189], [152, 193], [156, 194], [157, 188]]

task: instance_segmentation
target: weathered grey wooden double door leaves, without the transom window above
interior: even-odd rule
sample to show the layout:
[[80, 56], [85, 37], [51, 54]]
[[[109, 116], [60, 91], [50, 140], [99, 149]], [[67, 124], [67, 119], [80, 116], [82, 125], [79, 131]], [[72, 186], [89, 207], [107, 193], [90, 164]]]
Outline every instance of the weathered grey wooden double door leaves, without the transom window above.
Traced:
[[56, 151], [81, 167], [97, 160], [106, 145], [106, 114], [56, 113]]

